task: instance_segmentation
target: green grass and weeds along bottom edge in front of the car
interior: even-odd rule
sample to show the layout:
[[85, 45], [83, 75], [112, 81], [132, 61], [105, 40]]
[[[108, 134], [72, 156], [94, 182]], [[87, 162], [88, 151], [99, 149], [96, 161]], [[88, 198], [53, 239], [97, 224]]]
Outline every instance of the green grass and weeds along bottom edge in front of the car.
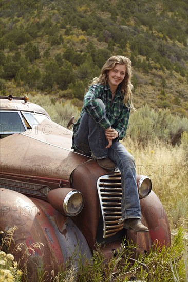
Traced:
[[[1, 282], [20, 282], [22, 278], [27, 280], [27, 261], [23, 272], [18, 270], [19, 263], [14, 261], [12, 254], [6, 254], [2, 249], [7, 248], [13, 241], [13, 233], [16, 227], [11, 228], [7, 233], [0, 248], [0, 281]], [[185, 242], [181, 228], [173, 238], [172, 246], [162, 249], [156, 247], [147, 256], [140, 256], [138, 260], [131, 258], [133, 248], [136, 245], [129, 245], [123, 242], [120, 249], [116, 251], [114, 258], [106, 260], [100, 245], [93, 252], [91, 261], [85, 261], [83, 257], [77, 261], [78, 265], [68, 262], [69, 267], [65, 271], [59, 271], [54, 276], [51, 273], [50, 282], [123, 282], [132, 280], [154, 281], [154, 282], [180, 282], [187, 281]], [[37, 246], [42, 248], [42, 245]], [[15, 246], [15, 249], [19, 246]], [[31, 248], [28, 248], [31, 249]], [[44, 278], [44, 271], [38, 271], [37, 281], [49, 281]], [[36, 281], [36, 282], [37, 282]]]

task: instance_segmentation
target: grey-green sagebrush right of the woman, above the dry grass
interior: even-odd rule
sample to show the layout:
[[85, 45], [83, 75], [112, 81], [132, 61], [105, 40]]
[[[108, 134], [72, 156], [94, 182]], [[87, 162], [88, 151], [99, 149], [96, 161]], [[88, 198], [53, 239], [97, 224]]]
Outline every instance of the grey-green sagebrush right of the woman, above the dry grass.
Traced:
[[187, 118], [174, 116], [169, 109], [155, 111], [145, 105], [130, 115], [127, 135], [142, 146], [155, 140], [164, 140], [175, 145], [180, 144], [183, 131], [188, 131]]

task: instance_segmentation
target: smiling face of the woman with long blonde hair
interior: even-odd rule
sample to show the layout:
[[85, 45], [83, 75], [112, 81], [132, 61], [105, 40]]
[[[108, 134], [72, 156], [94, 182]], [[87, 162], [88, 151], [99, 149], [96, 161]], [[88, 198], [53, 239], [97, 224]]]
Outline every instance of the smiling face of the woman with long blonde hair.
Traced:
[[118, 85], [123, 81], [125, 77], [126, 66], [116, 64], [114, 68], [109, 70], [108, 72], [108, 84], [110, 86], [110, 90], [114, 92]]

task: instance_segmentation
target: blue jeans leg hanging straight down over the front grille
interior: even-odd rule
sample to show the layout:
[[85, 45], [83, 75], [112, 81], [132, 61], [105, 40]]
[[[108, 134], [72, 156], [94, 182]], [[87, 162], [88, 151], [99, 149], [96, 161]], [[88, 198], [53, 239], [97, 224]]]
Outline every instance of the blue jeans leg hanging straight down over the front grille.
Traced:
[[136, 183], [135, 160], [118, 141], [112, 142], [108, 155], [121, 172], [122, 182], [122, 219], [141, 219], [140, 200]]

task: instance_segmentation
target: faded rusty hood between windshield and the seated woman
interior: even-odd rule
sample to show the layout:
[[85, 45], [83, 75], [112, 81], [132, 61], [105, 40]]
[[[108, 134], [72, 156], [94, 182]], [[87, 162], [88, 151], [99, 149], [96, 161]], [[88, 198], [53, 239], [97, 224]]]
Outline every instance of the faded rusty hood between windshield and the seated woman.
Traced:
[[26, 132], [0, 142], [0, 172], [69, 180], [72, 171], [91, 158], [71, 149], [72, 131], [44, 120]]

